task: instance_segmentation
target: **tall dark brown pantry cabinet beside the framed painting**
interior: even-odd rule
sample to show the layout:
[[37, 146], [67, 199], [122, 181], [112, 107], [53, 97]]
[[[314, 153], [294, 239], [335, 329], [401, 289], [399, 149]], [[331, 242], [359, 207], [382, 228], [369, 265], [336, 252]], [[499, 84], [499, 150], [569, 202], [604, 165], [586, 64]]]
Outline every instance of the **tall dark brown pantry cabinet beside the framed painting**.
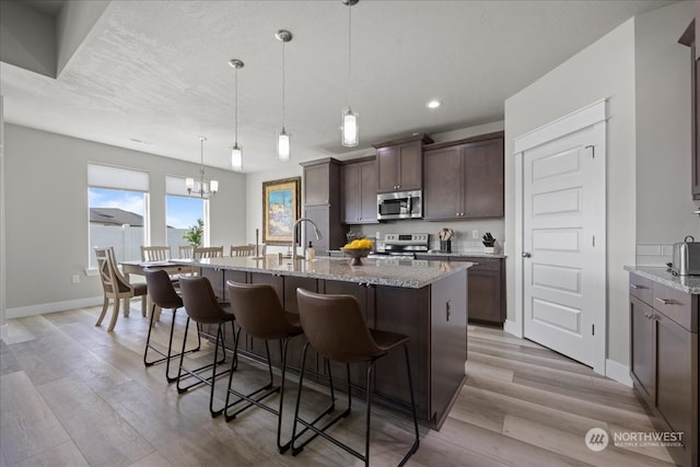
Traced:
[[316, 240], [313, 225], [302, 223], [306, 244], [312, 242], [317, 255], [328, 255], [345, 244], [340, 222], [340, 163], [335, 159], [303, 162], [304, 218], [311, 219], [323, 234]]

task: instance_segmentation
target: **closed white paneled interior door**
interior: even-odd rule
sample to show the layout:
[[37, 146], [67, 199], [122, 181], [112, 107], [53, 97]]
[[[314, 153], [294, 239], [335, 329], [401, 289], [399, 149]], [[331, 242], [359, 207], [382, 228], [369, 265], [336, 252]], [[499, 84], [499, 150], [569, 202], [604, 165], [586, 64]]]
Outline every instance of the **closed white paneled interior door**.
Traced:
[[522, 154], [524, 336], [590, 366], [606, 306], [604, 144], [590, 126]]

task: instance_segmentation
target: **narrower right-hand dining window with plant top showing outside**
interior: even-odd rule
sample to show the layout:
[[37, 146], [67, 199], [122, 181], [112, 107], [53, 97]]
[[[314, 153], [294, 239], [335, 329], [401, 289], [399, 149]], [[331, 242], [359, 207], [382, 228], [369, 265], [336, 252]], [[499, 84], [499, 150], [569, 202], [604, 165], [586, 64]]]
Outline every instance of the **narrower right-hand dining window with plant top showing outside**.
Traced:
[[177, 255], [178, 246], [187, 245], [183, 233], [197, 224], [197, 220], [205, 222], [202, 246], [209, 245], [209, 201], [203, 198], [190, 198], [183, 177], [165, 177], [165, 229], [167, 244], [173, 255]]

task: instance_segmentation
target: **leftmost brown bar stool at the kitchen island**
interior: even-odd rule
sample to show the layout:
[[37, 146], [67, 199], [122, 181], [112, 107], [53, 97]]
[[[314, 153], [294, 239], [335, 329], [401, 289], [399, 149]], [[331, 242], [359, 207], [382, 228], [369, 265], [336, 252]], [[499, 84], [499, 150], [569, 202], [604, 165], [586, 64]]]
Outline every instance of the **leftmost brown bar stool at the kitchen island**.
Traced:
[[[173, 353], [173, 332], [175, 331], [175, 314], [178, 308], [183, 307], [183, 299], [177, 294], [171, 277], [163, 269], [143, 269], [145, 283], [148, 284], [149, 295], [153, 302], [151, 310], [151, 323], [149, 324], [149, 334], [145, 338], [145, 349], [143, 350], [143, 364], [152, 366], [156, 363], [165, 362], [165, 378], [168, 383], [177, 380], [177, 376], [171, 376], [171, 359], [179, 357], [179, 353]], [[173, 322], [171, 323], [171, 337], [167, 341], [167, 353], [161, 351], [151, 343], [151, 330], [153, 329], [153, 318], [155, 316], [155, 307], [160, 306], [164, 310], [173, 311]], [[185, 353], [196, 352], [201, 347], [201, 338], [197, 332], [197, 348], [190, 349]], [[161, 358], [149, 360], [149, 350], [158, 353]]]

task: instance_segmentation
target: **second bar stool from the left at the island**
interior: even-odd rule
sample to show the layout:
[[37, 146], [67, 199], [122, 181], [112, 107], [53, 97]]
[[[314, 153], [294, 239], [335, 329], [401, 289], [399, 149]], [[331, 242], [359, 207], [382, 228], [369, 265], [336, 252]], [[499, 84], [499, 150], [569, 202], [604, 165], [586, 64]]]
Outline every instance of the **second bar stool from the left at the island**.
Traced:
[[[217, 373], [217, 366], [226, 360], [226, 350], [224, 347], [224, 329], [226, 323], [231, 323], [231, 330], [234, 339], [234, 348], [236, 345], [236, 332], [233, 322], [235, 317], [233, 313], [226, 312], [222, 304], [217, 302], [217, 296], [211, 288], [209, 279], [206, 277], [186, 277], [180, 276], [179, 287], [183, 296], [183, 303], [185, 304], [185, 311], [187, 312], [187, 324], [185, 325], [185, 337], [183, 338], [183, 351], [179, 355], [179, 370], [177, 371], [177, 393], [185, 393], [192, 387], [197, 387], [201, 384], [211, 386], [211, 393], [209, 395], [209, 412], [211, 417], [220, 416], [225, 407], [219, 410], [213, 409], [214, 400], [214, 384], [219, 376], [228, 374], [230, 371], [236, 367], [236, 355], [234, 353], [233, 363], [231, 370]], [[197, 335], [201, 332], [200, 325], [217, 325], [217, 337], [214, 345], [214, 359], [212, 363], [200, 366], [195, 370], [189, 370], [183, 366], [185, 360], [185, 347], [187, 346], [187, 331], [189, 330], [189, 320], [197, 323]], [[221, 351], [223, 357], [219, 360], [219, 343], [221, 343]], [[211, 376], [202, 376], [200, 373], [212, 369]], [[184, 375], [184, 377], [183, 377]], [[180, 386], [180, 383], [185, 378], [194, 377], [197, 382], [189, 384], [188, 386]]]

